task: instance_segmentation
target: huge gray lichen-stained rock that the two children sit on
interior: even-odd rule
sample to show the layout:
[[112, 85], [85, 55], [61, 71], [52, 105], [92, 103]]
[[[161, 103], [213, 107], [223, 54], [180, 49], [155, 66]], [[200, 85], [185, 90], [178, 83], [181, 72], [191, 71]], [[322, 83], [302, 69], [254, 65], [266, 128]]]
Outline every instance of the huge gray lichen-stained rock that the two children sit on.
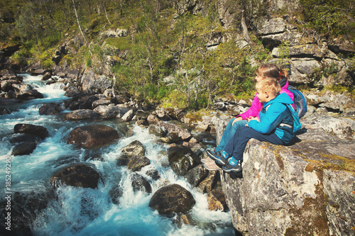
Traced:
[[[216, 123], [218, 140], [228, 120]], [[355, 121], [313, 114], [301, 122], [292, 145], [249, 140], [242, 175], [221, 174], [242, 234], [354, 235]]]

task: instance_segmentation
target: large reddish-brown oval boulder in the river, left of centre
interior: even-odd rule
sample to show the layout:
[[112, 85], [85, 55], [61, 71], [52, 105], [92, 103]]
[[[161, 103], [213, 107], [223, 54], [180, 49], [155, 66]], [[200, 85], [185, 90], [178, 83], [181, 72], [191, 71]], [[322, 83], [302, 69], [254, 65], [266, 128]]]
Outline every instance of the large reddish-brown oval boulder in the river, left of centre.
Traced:
[[114, 128], [107, 125], [84, 125], [70, 132], [67, 143], [95, 149], [110, 145], [117, 140], [119, 140], [119, 133]]

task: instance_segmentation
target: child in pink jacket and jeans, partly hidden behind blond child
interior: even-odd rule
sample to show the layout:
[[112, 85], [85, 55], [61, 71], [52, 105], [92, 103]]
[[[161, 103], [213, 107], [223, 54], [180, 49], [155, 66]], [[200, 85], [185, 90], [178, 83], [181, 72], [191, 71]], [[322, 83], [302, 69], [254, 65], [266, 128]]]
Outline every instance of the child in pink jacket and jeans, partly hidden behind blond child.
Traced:
[[[281, 86], [281, 93], [286, 93], [293, 101], [293, 93], [288, 90], [288, 72], [286, 69], [280, 70], [275, 64], [262, 64], [258, 69], [256, 69], [256, 82], [260, 82], [262, 79], [266, 77], [272, 77], [278, 80], [278, 83]], [[294, 108], [293, 104], [293, 108]], [[220, 152], [224, 150], [227, 142], [233, 137], [234, 133], [236, 133], [236, 129], [239, 126], [244, 126], [248, 122], [248, 119], [251, 117], [258, 117], [259, 112], [263, 108], [262, 103], [258, 100], [257, 94], [251, 103], [251, 107], [248, 111], [241, 113], [236, 118], [231, 118], [229, 123], [226, 125], [224, 129], [224, 133], [222, 135], [222, 139], [219, 142], [219, 145], [216, 147], [215, 152]], [[212, 152], [212, 151], [209, 151]], [[213, 152], [212, 152], [213, 153]], [[212, 162], [212, 159], [201, 159], [202, 163]]]

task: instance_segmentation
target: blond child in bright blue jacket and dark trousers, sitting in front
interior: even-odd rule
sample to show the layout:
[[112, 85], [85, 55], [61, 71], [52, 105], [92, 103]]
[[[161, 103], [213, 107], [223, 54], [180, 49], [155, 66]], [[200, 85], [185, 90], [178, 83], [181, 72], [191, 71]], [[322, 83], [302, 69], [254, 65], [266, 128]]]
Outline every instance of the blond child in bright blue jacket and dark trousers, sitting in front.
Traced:
[[250, 118], [245, 126], [239, 126], [221, 152], [207, 151], [207, 155], [214, 159], [214, 162], [225, 172], [241, 172], [243, 152], [251, 138], [276, 145], [285, 145], [293, 139], [295, 136], [294, 122], [299, 123], [300, 120], [298, 116], [295, 116], [298, 120], [294, 120], [290, 111], [293, 109], [291, 106], [293, 101], [288, 94], [279, 94], [280, 90], [280, 84], [273, 78], [258, 82], [256, 84], [257, 97], [263, 103], [263, 108], [259, 113], [260, 119]]

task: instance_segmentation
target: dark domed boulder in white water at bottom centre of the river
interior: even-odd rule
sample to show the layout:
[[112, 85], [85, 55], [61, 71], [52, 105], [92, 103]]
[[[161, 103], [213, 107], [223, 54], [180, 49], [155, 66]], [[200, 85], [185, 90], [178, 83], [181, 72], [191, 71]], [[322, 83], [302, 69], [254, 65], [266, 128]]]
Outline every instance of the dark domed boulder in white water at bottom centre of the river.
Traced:
[[186, 213], [195, 206], [192, 194], [178, 184], [163, 186], [155, 191], [149, 207], [158, 210], [158, 213], [170, 215], [172, 213]]

